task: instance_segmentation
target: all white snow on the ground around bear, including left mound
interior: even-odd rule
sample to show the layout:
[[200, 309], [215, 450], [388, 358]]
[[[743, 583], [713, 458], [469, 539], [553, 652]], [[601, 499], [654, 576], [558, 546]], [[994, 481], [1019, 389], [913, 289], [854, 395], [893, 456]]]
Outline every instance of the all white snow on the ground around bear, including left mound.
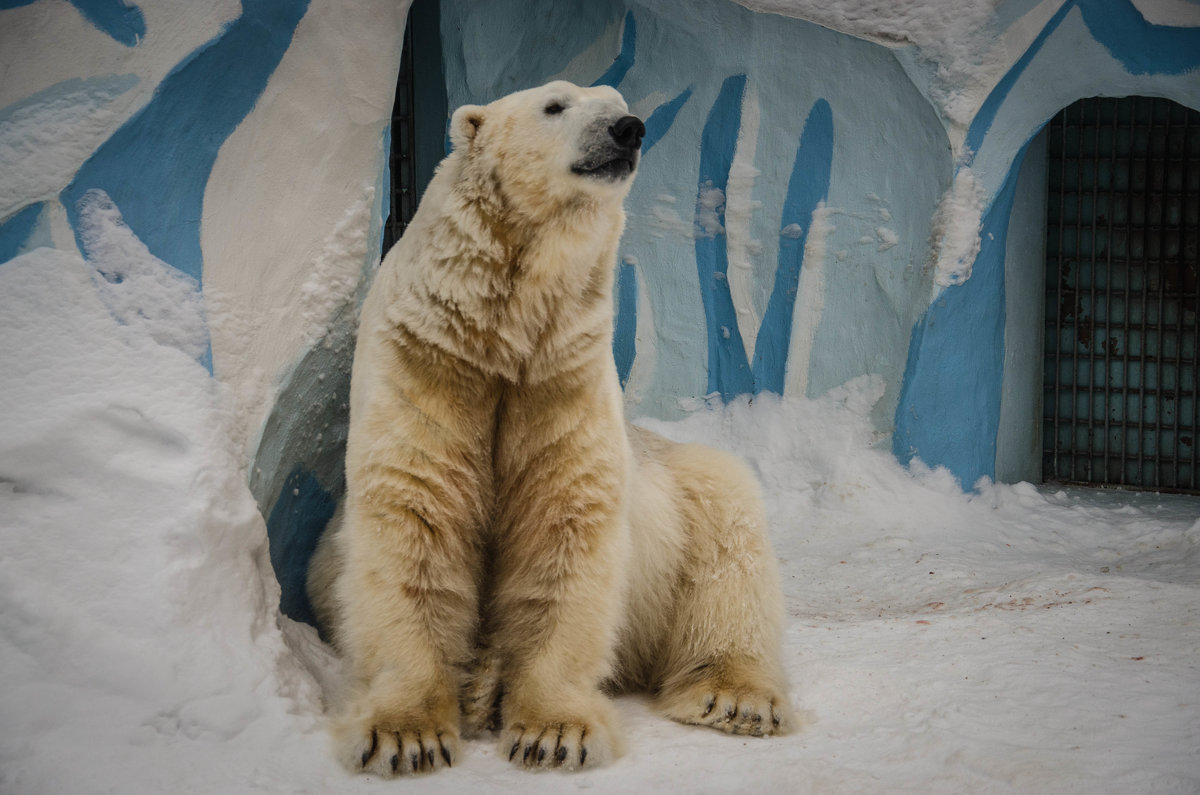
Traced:
[[234, 401], [166, 333], [194, 328], [163, 310], [190, 287], [101, 199], [107, 279], [0, 265], [0, 793], [1200, 791], [1200, 500], [964, 495], [877, 449], [872, 378], [647, 422], [761, 476], [803, 730], [623, 698], [607, 769], [529, 775], [474, 741], [432, 777], [344, 773], [337, 663], [277, 615]]

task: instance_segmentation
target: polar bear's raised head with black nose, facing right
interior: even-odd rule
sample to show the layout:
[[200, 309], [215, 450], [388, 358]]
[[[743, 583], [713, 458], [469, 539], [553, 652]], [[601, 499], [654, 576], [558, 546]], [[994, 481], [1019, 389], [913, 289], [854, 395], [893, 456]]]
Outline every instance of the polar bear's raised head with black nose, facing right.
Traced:
[[534, 214], [582, 198], [619, 204], [644, 133], [614, 89], [563, 80], [463, 106], [450, 121], [464, 168]]

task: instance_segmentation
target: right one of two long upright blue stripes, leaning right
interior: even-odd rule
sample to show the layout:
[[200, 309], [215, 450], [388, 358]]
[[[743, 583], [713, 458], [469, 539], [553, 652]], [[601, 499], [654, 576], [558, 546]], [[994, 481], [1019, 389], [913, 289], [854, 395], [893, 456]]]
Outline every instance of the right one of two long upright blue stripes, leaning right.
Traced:
[[800, 285], [804, 245], [812, 227], [812, 213], [829, 193], [833, 171], [833, 109], [817, 100], [804, 121], [804, 132], [796, 150], [792, 177], [787, 183], [781, 226], [799, 226], [799, 234], [780, 234], [779, 265], [775, 285], [755, 341], [755, 391], [763, 389], [784, 394], [787, 349], [792, 339], [792, 315]]

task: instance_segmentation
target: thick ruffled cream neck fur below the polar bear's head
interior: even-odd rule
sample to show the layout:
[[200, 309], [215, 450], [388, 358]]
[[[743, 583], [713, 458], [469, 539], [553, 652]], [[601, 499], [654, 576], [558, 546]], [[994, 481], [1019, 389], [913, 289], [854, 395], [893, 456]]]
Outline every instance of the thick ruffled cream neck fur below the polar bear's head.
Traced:
[[451, 197], [422, 225], [424, 240], [407, 246], [416, 262], [406, 264], [392, 321], [511, 382], [551, 377], [582, 357], [611, 358], [623, 226], [619, 204], [581, 202], [526, 219], [491, 198]]

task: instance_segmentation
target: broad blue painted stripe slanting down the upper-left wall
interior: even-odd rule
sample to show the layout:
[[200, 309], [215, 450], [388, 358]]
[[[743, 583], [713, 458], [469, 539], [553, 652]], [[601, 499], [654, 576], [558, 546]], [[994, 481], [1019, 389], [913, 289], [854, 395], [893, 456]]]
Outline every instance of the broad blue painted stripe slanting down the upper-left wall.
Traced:
[[239, 19], [184, 59], [62, 191], [76, 237], [77, 204], [100, 189], [151, 253], [200, 280], [200, 211], [217, 151], [266, 88], [307, 7], [244, 0]]

